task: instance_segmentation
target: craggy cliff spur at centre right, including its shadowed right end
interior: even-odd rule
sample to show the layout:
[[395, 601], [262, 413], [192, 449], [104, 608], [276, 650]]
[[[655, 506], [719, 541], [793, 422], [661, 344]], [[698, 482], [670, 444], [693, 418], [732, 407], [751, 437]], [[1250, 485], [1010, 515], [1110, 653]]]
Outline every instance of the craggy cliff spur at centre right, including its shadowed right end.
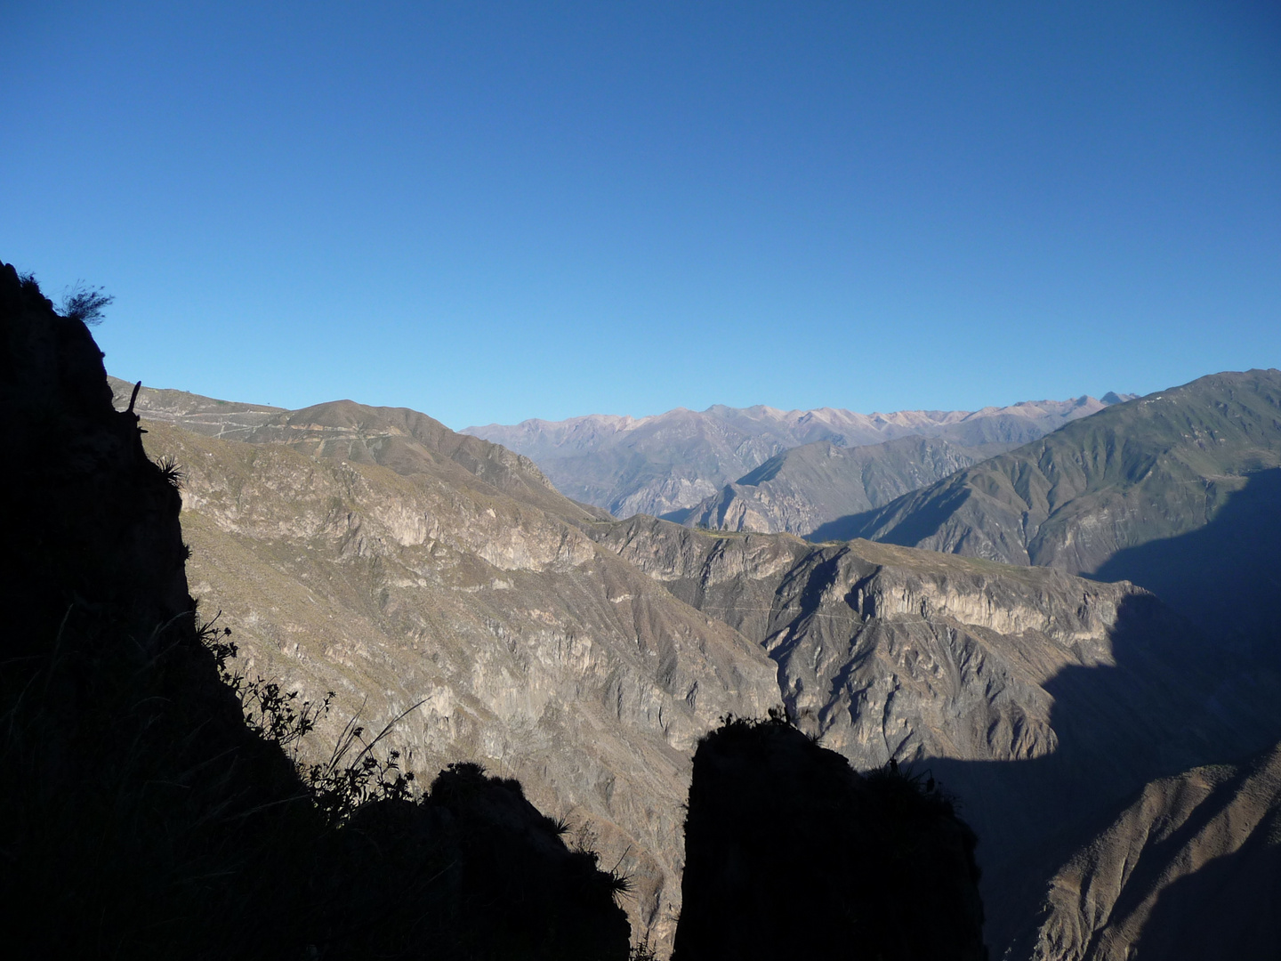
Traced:
[[861, 770], [913, 761], [957, 792], [998, 915], [1020, 894], [1007, 869], [1027, 851], [1062, 832], [1084, 841], [1091, 815], [1146, 779], [1276, 729], [1267, 696], [1127, 583], [647, 518], [594, 530], [761, 643], [789, 712], [821, 744]]

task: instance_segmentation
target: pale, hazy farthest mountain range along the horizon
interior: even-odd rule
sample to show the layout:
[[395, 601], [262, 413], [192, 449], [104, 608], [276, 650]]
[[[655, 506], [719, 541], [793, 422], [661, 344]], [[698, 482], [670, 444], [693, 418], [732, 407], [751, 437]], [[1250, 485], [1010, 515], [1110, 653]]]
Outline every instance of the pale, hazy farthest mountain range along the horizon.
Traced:
[[[1112, 395], [1116, 396], [1116, 395]], [[1029, 401], [976, 411], [683, 407], [647, 418], [593, 414], [569, 420], [524, 420], [469, 427], [462, 433], [530, 457], [562, 493], [611, 514], [666, 516], [712, 497], [726, 483], [776, 454], [816, 441], [843, 447], [901, 437], [938, 437], [966, 447], [1017, 446], [1108, 401]]]

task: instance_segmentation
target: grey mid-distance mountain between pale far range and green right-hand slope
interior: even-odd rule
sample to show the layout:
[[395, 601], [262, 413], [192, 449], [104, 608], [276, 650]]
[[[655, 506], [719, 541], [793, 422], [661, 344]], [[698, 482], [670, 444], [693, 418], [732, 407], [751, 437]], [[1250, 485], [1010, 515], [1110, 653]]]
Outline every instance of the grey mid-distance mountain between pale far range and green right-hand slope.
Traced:
[[828, 441], [803, 443], [775, 454], [698, 502], [681, 523], [804, 536], [828, 522], [889, 504], [1011, 446], [959, 447], [936, 437], [903, 437], [862, 447], [838, 447]]

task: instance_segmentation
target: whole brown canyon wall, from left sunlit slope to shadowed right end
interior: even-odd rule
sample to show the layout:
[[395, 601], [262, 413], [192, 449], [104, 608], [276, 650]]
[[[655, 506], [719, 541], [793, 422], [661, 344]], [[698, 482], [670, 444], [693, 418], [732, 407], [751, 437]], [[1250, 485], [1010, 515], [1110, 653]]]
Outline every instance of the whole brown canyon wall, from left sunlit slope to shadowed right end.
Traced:
[[1039, 907], [1015, 871], [1029, 852], [1075, 851], [1144, 783], [1275, 730], [1269, 677], [1241, 683], [1231, 651], [1129, 583], [606, 520], [412, 411], [270, 413], [254, 443], [182, 416], [146, 441], [184, 470], [193, 593], [246, 668], [336, 689], [370, 727], [411, 709], [389, 743], [415, 768], [518, 776], [620, 858], [660, 948], [689, 752], [726, 712], [781, 700], [854, 768], [911, 762], [958, 796], [998, 955]]

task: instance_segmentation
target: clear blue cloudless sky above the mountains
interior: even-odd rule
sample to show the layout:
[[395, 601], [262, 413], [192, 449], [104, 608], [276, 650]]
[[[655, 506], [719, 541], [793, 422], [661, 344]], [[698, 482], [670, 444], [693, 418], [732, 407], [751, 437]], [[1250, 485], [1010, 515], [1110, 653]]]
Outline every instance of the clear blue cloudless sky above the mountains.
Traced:
[[460, 428], [1281, 365], [1281, 4], [0, 0], [108, 369]]

